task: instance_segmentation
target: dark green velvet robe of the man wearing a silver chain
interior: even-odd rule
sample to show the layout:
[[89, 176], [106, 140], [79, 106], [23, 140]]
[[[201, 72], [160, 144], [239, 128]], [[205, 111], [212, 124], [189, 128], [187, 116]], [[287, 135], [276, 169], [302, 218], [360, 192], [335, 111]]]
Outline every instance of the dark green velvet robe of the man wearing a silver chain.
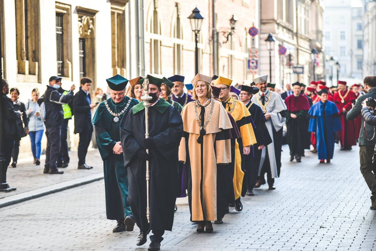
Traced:
[[[114, 101], [109, 98], [107, 103], [112, 112], [119, 113], [127, 106], [129, 100], [130, 98], [125, 96], [123, 101], [115, 105]], [[120, 141], [121, 118], [138, 103], [138, 100], [134, 98], [130, 100], [126, 112], [118, 117], [118, 122], [115, 122], [114, 116], [108, 112], [105, 102], [102, 102], [92, 120], [95, 126], [98, 150], [103, 160], [106, 215], [107, 219], [111, 220], [123, 220], [127, 215], [132, 214], [127, 203], [128, 173], [124, 166], [123, 154], [112, 153], [112, 148], [116, 142]]]

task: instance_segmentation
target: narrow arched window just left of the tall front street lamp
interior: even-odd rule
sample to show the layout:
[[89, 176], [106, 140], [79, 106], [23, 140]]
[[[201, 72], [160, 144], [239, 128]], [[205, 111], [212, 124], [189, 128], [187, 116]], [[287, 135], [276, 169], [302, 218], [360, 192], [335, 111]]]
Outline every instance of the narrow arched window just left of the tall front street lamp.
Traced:
[[[179, 10], [179, 3], [176, 3], [176, 20], [173, 30], [174, 38], [176, 39], [183, 39], [183, 26], [180, 21], [180, 10]], [[182, 75], [182, 59], [183, 57], [183, 45], [182, 40], [174, 43], [174, 72], [176, 74]]]

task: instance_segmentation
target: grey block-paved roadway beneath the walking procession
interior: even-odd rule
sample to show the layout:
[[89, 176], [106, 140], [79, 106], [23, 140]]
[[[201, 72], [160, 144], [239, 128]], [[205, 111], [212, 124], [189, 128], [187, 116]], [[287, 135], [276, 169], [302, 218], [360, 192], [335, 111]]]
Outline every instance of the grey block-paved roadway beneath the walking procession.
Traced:
[[[358, 147], [336, 146], [331, 164], [318, 164], [306, 152], [302, 163], [288, 161], [283, 147], [277, 190], [266, 185], [254, 197], [242, 198], [214, 233], [196, 233], [186, 198], [177, 200], [172, 232], [161, 250], [364, 250], [376, 251], [376, 212], [359, 171]], [[99, 169], [99, 168], [98, 168]], [[103, 180], [0, 209], [0, 251], [147, 250], [132, 233], [112, 233], [106, 219]]]

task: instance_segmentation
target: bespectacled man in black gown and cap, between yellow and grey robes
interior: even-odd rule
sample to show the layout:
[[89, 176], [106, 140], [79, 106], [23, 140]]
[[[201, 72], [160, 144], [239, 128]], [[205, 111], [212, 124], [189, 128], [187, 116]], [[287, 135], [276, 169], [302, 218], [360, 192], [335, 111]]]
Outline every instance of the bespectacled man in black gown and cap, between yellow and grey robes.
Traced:
[[258, 169], [261, 162], [262, 149], [272, 142], [268, 129], [265, 125], [266, 120], [261, 107], [251, 101], [252, 95], [256, 94], [257, 92], [259, 92], [259, 88], [257, 87], [250, 87], [246, 85], [242, 85], [240, 87], [240, 101], [242, 101], [243, 104], [246, 105], [249, 113], [251, 113], [253, 123], [256, 127], [255, 136], [257, 144], [253, 145], [254, 157], [246, 156], [247, 177], [243, 180], [243, 183], [246, 182], [247, 184], [247, 195], [249, 196], [255, 195], [253, 188], [255, 187], [258, 177]]

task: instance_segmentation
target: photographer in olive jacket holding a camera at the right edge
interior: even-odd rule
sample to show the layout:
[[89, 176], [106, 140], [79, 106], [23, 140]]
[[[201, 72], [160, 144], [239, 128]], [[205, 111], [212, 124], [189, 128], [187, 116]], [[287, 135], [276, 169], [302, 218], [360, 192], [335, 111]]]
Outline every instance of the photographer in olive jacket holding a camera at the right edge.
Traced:
[[[364, 100], [367, 98], [376, 99], [376, 76], [369, 75], [364, 78], [363, 82], [364, 89], [367, 93], [360, 96], [356, 100], [355, 105], [346, 115], [347, 120], [354, 120], [357, 116], [359, 116], [359, 114], [362, 113], [362, 102]], [[374, 167], [372, 163], [376, 139], [375, 137], [369, 137], [373, 135], [374, 127], [368, 123], [364, 124], [364, 116], [362, 117], [362, 125], [364, 126], [364, 129], [360, 130], [359, 135], [360, 171], [364, 177], [365, 183], [367, 183], [369, 189], [371, 190], [372, 205], [370, 209], [376, 210], [376, 167]]]

